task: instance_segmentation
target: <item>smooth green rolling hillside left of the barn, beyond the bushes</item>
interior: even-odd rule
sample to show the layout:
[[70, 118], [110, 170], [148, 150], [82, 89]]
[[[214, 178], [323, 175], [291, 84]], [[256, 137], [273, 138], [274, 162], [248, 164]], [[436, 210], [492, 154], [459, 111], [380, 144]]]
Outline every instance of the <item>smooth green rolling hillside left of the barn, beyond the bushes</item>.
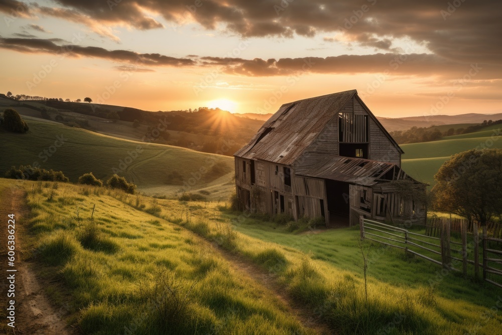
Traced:
[[[0, 171], [38, 163], [44, 169], [62, 170], [72, 182], [87, 172], [100, 179], [116, 172], [136, 183], [139, 191], [160, 196], [179, 195], [186, 189], [204, 190], [208, 199], [226, 199], [234, 187], [231, 157], [117, 139], [33, 119], [28, 123], [26, 134], [0, 130]], [[64, 144], [58, 142], [56, 147], [61, 136]]]

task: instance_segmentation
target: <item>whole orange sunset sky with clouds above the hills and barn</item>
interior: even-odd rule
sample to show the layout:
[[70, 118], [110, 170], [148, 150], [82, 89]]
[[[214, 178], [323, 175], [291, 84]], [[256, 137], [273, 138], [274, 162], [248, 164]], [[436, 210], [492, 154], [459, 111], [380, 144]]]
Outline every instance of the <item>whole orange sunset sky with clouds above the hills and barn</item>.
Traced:
[[0, 92], [274, 113], [357, 89], [375, 115], [501, 113], [502, 2], [0, 0]]

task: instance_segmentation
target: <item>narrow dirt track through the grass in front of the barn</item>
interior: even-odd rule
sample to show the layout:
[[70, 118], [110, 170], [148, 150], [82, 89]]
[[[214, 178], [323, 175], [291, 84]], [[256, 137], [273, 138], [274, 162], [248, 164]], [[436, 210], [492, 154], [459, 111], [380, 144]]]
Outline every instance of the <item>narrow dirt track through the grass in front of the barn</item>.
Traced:
[[319, 320], [312, 309], [297, 303], [270, 273], [259, 268], [251, 261], [242, 259], [242, 257], [231, 254], [218, 246], [216, 246], [216, 248], [236, 271], [244, 273], [256, 282], [260, 283], [265, 290], [268, 291], [267, 293], [270, 293], [282, 302], [289, 312], [300, 320], [306, 328], [309, 328], [315, 333], [321, 335], [335, 333], [325, 323]]

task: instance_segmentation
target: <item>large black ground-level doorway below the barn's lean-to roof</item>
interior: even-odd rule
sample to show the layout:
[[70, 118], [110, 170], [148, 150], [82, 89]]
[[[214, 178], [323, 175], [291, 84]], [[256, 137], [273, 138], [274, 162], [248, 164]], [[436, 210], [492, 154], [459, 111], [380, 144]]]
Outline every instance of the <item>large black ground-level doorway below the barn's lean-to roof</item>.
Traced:
[[348, 226], [350, 215], [349, 184], [342, 181], [326, 180], [326, 195], [331, 226]]

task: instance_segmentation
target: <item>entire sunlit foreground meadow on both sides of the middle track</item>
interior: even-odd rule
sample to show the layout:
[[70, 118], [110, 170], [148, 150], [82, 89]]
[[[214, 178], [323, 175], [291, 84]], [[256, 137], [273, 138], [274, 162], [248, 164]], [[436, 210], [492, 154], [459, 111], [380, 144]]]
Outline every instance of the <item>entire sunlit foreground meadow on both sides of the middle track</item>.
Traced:
[[0, 185], [26, 191], [26, 257], [44, 265], [46, 292], [86, 334], [316, 333], [281, 294], [340, 334], [493, 334], [502, 325], [493, 286], [363, 241], [366, 294], [357, 229], [294, 234], [225, 202]]

